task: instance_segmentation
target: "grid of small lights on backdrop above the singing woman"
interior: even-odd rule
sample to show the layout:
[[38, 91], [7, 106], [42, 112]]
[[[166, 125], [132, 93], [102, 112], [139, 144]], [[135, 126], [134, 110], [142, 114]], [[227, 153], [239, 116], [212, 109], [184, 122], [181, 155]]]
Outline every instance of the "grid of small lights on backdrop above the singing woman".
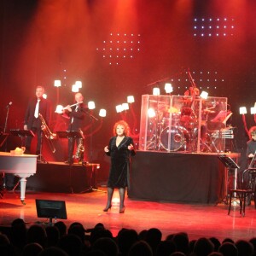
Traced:
[[110, 66], [119, 65], [122, 61], [134, 60], [141, 51], [141, 35], [135, 33], [109, 34], [108, 40], [103, 40], [96, 51], [102, 55]]

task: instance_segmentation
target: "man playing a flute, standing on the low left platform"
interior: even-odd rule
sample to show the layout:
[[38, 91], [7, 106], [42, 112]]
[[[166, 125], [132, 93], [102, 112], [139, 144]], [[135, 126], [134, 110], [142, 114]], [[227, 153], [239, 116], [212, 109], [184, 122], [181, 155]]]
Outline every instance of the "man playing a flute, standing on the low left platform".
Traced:
[[[63, 108], [62, 113], [63, 113], [63, 116], [65, 116], [66, 114], [67, 118], [69, 118], [69, 125], [68, 125], [67, 131], [82, 132], [82, 128], [84, 126], [85, 113], [88, 111], [88, 108], [84, 107], [84, 104], [83, 104], [84, 96], [80, 92], [75, 94], [75, 101], [77, 102], [75, 106], [70, 107], [69, 105], [67, 105], [67, 107]], [[69, 165], [73, 164], [73, 150], [74, 150], [75, 143], [77, 144], [77, 147], [84, 146], [84, 145], [79, 145], [79, 143], [81, 142], [83, 141], [79, 140], [79, 138], [76, 138], [76, 139], [74, 139], [73, 137], [68, 138], [68, 156], [67, 156], [67, 160], [65, 161], [66, 164], [69, 164]]]

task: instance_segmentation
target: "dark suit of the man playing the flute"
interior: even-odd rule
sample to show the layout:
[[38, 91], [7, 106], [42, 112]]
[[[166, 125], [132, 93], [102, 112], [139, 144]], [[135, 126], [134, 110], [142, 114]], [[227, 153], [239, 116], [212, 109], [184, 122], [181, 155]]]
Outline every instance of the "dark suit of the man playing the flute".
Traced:
[[[80, 103], [78, 105], [78, 108], [77, 106], [72, 107], [72, 112], [67, 113], [68, 116], [70, 117], [68, 131], [82, 130], [82, 128], [84, 127], [85, 113], [87, 111], [88, 111], [88, 108], [85, 108], [83, 103]], [[75, 141], [78, 144], [79, 138], [76, 140], [73, 138], [68, 139], [68, 157], [67, 157], [68, 162], [73, 162], [73, 150], [74, 150]]]

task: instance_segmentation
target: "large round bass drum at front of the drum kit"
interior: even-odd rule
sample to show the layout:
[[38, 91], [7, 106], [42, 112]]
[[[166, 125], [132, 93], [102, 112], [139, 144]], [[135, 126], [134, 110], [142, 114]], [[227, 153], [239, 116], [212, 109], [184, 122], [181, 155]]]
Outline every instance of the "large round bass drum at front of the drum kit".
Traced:
[[182, 126], [172, 126], [171, 129], [166, 127], [160, 134], [160, 143], [168, 151], [183, 148], [188, 139], [189, 132]]

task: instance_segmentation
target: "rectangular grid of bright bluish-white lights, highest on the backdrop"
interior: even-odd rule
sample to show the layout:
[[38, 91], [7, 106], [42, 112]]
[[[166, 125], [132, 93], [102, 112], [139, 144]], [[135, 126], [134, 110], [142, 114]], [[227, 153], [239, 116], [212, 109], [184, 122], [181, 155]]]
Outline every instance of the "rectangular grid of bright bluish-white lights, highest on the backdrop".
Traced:
[[235, 30], [233, 18], [195, 18], [193, 35], [195, 38], [226, 38], [233, 37]]

